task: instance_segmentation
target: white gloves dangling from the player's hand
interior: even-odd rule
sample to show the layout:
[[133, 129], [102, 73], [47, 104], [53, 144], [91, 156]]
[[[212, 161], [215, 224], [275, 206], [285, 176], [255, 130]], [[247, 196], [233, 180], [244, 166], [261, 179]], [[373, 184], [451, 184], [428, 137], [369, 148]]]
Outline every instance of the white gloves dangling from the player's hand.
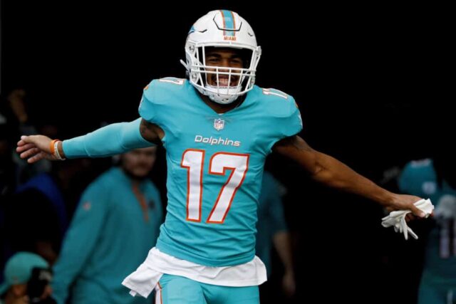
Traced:
[[[418, 209], [425, 212], [425, 217], [429, 216], [434, 209], [434, 205], [432, 205], [430, 199], [420, 199], [419, 201], [415, 202], [415, 206]], [[407, 221], [405, 221], [405, 216], [409, 214], [410, 210], [400, 210], [400, 211], [391, 211], [388, 216], [385, 216], [382, 219], [382, 226], [383, 227], [394, 227], [395, 232], [399, 232], [400, 234], [404, 234], [404, 238], [408, 239], [408, 234], [410, 233], [415, 239], [418, 239], [418, 236], [407, 226]]]

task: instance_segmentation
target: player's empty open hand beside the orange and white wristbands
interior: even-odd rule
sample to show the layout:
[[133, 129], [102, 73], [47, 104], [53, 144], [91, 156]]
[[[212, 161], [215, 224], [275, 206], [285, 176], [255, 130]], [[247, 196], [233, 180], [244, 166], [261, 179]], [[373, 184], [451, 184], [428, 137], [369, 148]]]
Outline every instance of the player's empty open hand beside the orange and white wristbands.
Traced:
[[22, 159], [27, 159], [29, 164], [41, 159], [58, 160], [51, 154], [51, 138], [44, 135], [21, 136], [17, 142], [16, 152], [21, 153]]

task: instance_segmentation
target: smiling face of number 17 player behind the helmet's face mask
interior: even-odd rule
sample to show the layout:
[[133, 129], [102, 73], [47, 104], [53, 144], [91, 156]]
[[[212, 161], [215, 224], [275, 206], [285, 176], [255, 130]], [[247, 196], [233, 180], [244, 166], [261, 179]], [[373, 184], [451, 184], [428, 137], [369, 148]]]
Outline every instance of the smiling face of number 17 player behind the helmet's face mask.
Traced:
[[[229, 72], [229, 68], [244, 68], [244, 61], [239, 51], [233, 48], [208, 48], [206, 51], [206, 65], [222, 66], [227, 69], [219, 69], [219, 72]], [[208, 72], [216, 71], [207, 69]], [[232, 73], [239, 73], [239, 70], [232, 70]], [[216, 73], [207, 73], [207, 83], [219, 87], [233, 87], [239, 84], [239, 75], [218, 75]], [[229, 81], [229, 83], [228, 83]]]

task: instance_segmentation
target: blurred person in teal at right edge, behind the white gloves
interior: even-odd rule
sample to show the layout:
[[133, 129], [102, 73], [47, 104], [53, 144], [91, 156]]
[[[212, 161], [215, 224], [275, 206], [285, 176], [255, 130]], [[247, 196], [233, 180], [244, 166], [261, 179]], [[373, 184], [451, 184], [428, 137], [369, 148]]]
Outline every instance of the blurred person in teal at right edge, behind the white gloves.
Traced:
[[401, 192], [429, 197], [435, 204], [419, 304], [456, 303], [456, 150], [450, 143], [436, 150], [432, 158], [405, 164], [398, 178]]

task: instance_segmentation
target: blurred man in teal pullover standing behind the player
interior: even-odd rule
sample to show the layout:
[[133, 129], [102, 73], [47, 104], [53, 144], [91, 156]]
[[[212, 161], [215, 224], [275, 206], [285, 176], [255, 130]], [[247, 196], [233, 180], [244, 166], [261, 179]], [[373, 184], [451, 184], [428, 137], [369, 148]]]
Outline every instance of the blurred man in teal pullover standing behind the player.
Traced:
[[155, 245], [162, 224], [160, 194], [150, 181], [156, 150], [120, 155], [120, 166], [83, 193], [53, 268], [58, 303], [151, 303], [120, 283]]

